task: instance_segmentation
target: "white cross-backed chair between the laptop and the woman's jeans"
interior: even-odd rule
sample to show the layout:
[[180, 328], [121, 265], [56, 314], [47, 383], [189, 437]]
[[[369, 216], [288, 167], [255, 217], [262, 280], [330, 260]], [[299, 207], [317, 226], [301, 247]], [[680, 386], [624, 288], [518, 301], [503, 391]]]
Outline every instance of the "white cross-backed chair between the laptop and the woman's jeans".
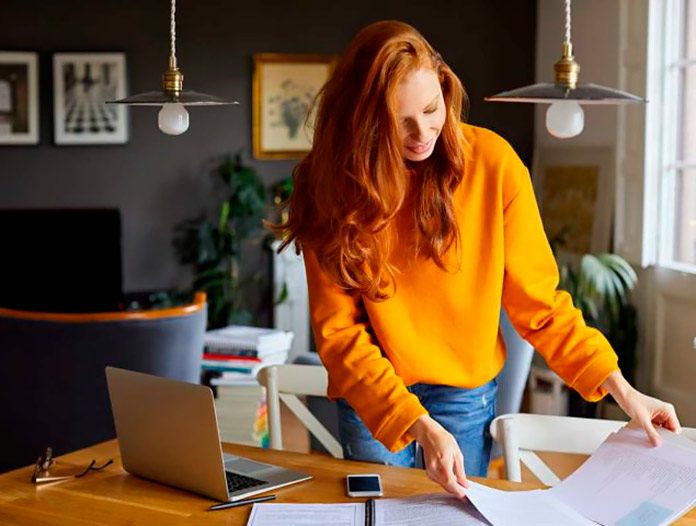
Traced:
[[268, 431], [272, 449], [283, 449], [280, 423], [280, 401], [282, 400], [334, 458], [343, 458], [341, 444], [298, 398], [298, 395], [326, 396], [329, 377], [324, 367], [271, 365], [261, 369], [257, 379], [266, 388]]

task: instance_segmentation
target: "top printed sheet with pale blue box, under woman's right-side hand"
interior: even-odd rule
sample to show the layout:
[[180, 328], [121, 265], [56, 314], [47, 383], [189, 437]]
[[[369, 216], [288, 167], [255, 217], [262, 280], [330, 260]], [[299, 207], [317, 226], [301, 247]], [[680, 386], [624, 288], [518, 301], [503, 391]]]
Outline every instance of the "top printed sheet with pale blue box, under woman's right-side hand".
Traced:
[[658, 430], [653, 447], [642, 430], [613, 433], [578, 469], [549, 492], [600, 524], [668, 524], [696, 502], [696, 448]]

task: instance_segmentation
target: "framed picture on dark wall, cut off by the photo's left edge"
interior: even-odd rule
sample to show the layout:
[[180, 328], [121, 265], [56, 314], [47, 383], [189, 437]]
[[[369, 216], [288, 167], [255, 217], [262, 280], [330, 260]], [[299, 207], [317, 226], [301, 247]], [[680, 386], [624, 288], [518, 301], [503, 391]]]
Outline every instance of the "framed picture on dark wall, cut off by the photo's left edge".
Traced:
[[0, 144], [38, 144], [36, 53], [0, 51]]

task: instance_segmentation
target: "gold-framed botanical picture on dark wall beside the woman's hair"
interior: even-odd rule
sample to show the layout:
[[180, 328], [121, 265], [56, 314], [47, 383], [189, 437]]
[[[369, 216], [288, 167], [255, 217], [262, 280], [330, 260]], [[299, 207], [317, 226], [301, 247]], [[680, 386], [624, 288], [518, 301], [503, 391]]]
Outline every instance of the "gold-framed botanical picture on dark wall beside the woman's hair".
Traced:
[[256, 159], [300, 159], [312, 148], [314, 100], [336, 55], [254, 55], [253, 143]]

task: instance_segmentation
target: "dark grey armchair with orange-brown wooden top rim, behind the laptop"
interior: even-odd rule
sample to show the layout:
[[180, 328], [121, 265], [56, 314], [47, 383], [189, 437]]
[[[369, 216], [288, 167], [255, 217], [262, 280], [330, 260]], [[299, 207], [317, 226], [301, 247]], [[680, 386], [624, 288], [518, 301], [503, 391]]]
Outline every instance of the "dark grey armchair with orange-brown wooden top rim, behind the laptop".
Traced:
[[183, 307], [95, 314], [0, 308], [0, 472], [115, 436], [107, 365], [199, 382], [205, 294]]

